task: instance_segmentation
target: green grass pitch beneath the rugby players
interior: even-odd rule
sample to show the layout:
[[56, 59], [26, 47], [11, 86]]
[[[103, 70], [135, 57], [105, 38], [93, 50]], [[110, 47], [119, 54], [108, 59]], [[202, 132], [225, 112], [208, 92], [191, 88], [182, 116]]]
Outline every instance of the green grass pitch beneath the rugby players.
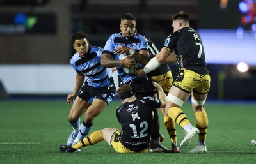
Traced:
[[[115, 116], [119, 101], [113, 101], [95, 121], [93, 129], [120, 128]], [[84, 147], [77, 153], [60, 153], [72, 128], [67, 117], [70, 105], [61, 100], [0, 101], [0, 163], [256, 163], [256, 104], [207, 103], [209, 117], [207, 153], [189, 154], [197, 137], [180, 154], [118, 154], [106, 142]], [[190, 103], [182, 106], [195, 125]], [[170, 140], [159, 111], [163, 145]], [[83, 119], [83, 117], [81, 117]], [[177, 125], [178, 143], [183, 130]]]

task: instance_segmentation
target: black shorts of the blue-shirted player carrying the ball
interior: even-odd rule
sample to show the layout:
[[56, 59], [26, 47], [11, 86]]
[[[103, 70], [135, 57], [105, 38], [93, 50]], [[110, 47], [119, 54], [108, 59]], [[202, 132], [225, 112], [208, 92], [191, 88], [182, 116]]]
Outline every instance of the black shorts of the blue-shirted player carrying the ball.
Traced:
[[156, 93], [156, 87], [154, 86], [153, 82], [145, 77], [135, 78], [127, 84], [129, 84], [132, 87], [132, 91], [136, 93], [137, 98], [153, 96]]

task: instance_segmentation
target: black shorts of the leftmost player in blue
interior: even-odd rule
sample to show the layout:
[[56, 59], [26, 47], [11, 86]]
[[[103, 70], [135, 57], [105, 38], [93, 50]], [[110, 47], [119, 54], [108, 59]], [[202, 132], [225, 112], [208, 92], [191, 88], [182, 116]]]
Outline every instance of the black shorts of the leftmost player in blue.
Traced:
[[115, 84], [111, 84], [109, 87], [92, 87], [88, 86], [87, 82], [85, 82], [77, 96], [90, 104], [97, 98], [105, 101], [109, 105], [115, 97], [115, 93]]

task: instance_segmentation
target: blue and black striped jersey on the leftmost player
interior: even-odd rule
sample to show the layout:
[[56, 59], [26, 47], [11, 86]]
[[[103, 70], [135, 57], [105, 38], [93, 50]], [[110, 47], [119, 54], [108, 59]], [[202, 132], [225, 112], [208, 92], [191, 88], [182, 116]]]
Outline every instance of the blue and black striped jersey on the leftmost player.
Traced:
[[111, 85], [111, 74], [108, 69], [100, 64], [102, 48], [90, 46], [86, 56], [74, 54], [70, 63], [77, 72], [86, 75], [88, 85], [92, 87], [107, 87]]

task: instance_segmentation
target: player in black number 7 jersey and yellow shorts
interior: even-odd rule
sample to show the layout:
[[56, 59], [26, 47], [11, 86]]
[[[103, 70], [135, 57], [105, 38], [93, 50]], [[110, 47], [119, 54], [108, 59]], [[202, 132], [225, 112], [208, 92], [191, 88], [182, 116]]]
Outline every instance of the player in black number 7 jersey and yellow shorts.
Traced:
[[[145, 73], [161, 66], [166, 59], [178, 62], [179, 75], [168, 93], [165, 112], [186, 131], [180, 147], [187, 147], [199, 133], [198, 144], [189, 153], [206, 153], [208, 117], [205, 112], [205, 101], [211, 78], [205, 63], [202, 39], [195, 29], [189, 27], [189, 15], [184, 11], [172, 16], [172, 27], [173, 33], [166, 38], [159, 54], [152, 58], [143, 69], [136, 71], [136, 75], [144, 76]], [[175, 54], [172, 54], [172, 50]], [[190, 95], [197, 128], [192, 126], [180, 109]]]

